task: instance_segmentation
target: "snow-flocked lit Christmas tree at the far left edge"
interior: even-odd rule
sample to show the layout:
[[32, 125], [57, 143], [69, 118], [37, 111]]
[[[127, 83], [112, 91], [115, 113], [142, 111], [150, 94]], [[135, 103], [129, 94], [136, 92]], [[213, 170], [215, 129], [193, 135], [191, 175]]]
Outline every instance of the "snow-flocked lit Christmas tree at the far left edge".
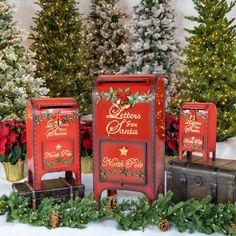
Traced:
[[24, 119], [26, 101], [47, 95], [44, 81], [35, 78], [32, 53], [21, 45], [23, 32], [12, 18], [13, 7], [0, 0], [0, 119]]

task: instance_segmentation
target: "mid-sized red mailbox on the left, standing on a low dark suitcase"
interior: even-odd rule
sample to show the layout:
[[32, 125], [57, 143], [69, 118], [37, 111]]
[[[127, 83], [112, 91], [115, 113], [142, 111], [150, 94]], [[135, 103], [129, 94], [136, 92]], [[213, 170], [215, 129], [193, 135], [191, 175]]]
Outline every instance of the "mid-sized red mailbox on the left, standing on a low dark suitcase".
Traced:
[[78, 104], [74, 98], [35, 98], [26, 107], [28, 178], [41, 189], [42, 176], [65, 171], [80, 184]]

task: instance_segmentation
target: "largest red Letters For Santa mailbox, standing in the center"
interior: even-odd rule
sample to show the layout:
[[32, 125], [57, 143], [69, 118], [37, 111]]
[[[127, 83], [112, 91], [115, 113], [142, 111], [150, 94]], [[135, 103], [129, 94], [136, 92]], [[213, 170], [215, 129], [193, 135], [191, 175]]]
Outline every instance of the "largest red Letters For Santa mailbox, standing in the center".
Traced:
[[95, 200], [104, 190], [117, 189], [156, 199], [164, 175], [163, 78], [100, 76], [93, 108]]

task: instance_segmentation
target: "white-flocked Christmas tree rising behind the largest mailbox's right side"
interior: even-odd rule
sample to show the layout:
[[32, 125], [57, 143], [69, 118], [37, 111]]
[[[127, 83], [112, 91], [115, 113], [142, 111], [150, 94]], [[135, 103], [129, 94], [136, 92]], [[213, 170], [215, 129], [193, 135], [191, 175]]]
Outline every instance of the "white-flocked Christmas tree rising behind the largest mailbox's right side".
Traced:
[[133, 22], [127, 25], [131, 44], [126, 45], [128, 63], [121, 73], [160, 73], [165, 78], [174, 72], [174, 12], [169, 0], [141, 0], [134, 7]]

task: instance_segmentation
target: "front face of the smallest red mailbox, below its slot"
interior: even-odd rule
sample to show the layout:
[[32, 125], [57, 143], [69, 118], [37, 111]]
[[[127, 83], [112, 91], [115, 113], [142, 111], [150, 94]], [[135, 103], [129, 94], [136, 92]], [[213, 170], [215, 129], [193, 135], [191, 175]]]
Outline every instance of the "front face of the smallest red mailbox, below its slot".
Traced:
[[183, 109], [180, 116], [181, 144], [186, 151], [202, 151], [207, 145], [207, 111]]

